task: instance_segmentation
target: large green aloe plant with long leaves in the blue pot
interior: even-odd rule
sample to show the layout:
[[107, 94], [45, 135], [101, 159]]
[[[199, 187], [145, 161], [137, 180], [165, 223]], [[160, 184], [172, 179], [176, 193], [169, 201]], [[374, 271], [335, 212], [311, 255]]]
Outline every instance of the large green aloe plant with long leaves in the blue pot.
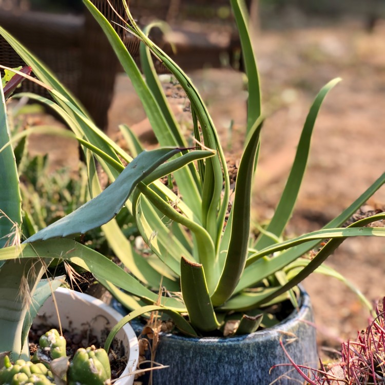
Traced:
[[[151, 186], [138, 189], [132, 198], [132, 213], [145, 242], [153, 252], [151, 258], [153, 261], [158, 258], [157, 266], [163, 267], [163, 276], [167, 278], [158, 282], [145, 282], [142, 279], [142, 282], [156, 290], [164, 286], [169, 293], [181, 292], [188, 320], [197, 334], [215, 334], [218, 329], [222, 329], [228, 313], [240, 314], [238, 333], [255, 330], [260, 319], [251, 322], [247, 317], [242, 318], [242, 314], [258, 314], [261, 307], [285, 298], [295, 301], [292, 288], [316, 270], [344, 239], [358, 235], [384, 236], [383, 229], [364, 227], [372, 221], [384, 218], [384, 214], [357, 222], [348, 228], [340, 227], [383, 185], [385, 175], [381, 175], [350, 207], [323, 229], [280, 241], [293, 213], [303, 179], [317, 114], [326, 94], [340, 81], [335, 79], [320, 90], [310, 108], [298, 142], [296, 157], [274, 217], [258, 239], [250, 238], [251, 187], [255, 172], [258, 172], [259, 134], [263, 118], [259, 73], [248, 32], [246, 8], [242, 1], [231, 0], [231, 5], [241, 37], [248, 79], [247, 136], [227, 221], [225, 215], [229, 206], [230, 187], [225, 157], [214, 123], [198, 90], [179, 66], [149, 40], [148, 29], [142, 31], [137, 26], [129, 7], [125, 4], [129, 20], [126, 28], [142, 41], [141, 66], [150, 92], [143, 91], [140, 88], [143, 81], [137, 79], [138, 70], [131, 65], [132, 58], [124, 45], [97, 9], [88, 0], [85, 0], [85, 4], [107, 34], [145, 108], [147, 100], [151, 100], [147, 99], [146, 92], [151, 92], [162, 110], [168, 122], [167, 130], [164, 126], [152, 125], [159, 143], [180, 144], [184, 138], [167, 105], [152, 57], [167, 67], [186, 92], [191, 103], [191, 120], [198, 142], [217, 151], [215, 157], [198, 162], [197, 169], [189, 168], [194, 183], [185, 184], [179, 175], [175, 174], [181, 198], [174, 197], [172, 204]], [[133, 133], [128, 128], [122, 129], [130, 139], [131, 151], [140, 151], [140, 143]], [[328, 238], [331, 240], [313, 260], [301, 258]], [[136, 275], [135, 272], [140, 271], [140, 275], [144, 276], [143, 269], [139, 268], [142, 266], [139, 261], [139, 258], [135, 259], [127, 267], [132, 274]], [[139, 279], [140, 275], [137, 275]], [[339, 278], [343, 280], [343, 277]], [[122, 323], [144, 312], [144, 309], [140, 309], [143, 302], [135, 301], [130, 296], [132, 292], [123, 294], [109, 282], [101, 282], [128, 309], [133, 310]], [[143, 297], [140, 298], [143, 300]], [[147, 306], [145, 311], [149, 311]], [[184, 309], [180, 312], [183, 311]]]

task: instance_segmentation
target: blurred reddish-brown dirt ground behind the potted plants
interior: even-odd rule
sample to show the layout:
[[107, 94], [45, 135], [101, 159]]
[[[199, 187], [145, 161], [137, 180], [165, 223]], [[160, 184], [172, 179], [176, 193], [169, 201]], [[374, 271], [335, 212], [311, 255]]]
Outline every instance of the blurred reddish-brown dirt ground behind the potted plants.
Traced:
[[[316, 93], [331, 79], [342, 78], [326, 97], [315, 127], [309, 167], [288, 226], [288, 235], [299, 235], [337, 216], [384, 172], [385, 23], [376, 25], [372, 34], [364, 31], [361, 22], [351, 20], [262, 31], [257, 33], [256, 51], [267, 119], [254, 188], [255, 220], [272, 215]], [[246, 118], [242, 75], [228, 68], [206, 68], [190, 76], [208, 104], [228, 157], [237, 164]], [[169, 94], [188, 128], [185, 99]], [[108, 133], [118, 140], [121, 123], [151, 142], [149, 124], [124, 74], [117, 78], [109, 111]], [[71, 151], [73, 158], [76, 147]], [[52, 161], [61, 162], [54, 156]], [[385, 205], [385, 189], [369, 203]], [[384, 251], [381, 239], [350, 239], [327, 263], [374, 301], [385, 296]], [[344, 284], [313, 275], [305, 287], [312, 296], [321, 344], [338, 347], [338, 338], [355, 338], [367, 324], [368, 312]]]

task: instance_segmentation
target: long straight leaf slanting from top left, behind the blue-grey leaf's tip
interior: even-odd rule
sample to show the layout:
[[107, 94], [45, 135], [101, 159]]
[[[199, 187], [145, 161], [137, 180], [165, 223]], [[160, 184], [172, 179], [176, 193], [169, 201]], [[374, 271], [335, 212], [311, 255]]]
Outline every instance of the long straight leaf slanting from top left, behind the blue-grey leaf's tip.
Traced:
[[[151, 127], [156, 133], [157, 139], [161, 146], [178, 146], [178, 142], [175, 140], [171, 131], [167, 126], [167, 122], [164, 119], [163, 113], [159, 108], [156, 99], [153, 97], [152, 92], [149, 90], [147, 84], [144, 82], [142, 74], [139, 71], [138, 66], [132, 59], [132, 56], [127, 51], [126, 46], [120, 40], [118, 34], [115, 32], [106, 18], [99, 12], [99, 10], [89, 1], [84, 0], [84, 4], [91, 12], [95, 20], [100, 24], [104, 33], [106, 34], [111, 47], [117, 55], [123, 69], [128, 74], [132, 86], [136, 90], [146, 112], [147, 118], [150, 121]], [[195, 181], [192, 178], [189, 168], [184, 167], [175, 173], [181, 194], [189, 201], [191, 209], [194, 210], [196, 215], [200, 215], [200, 202], [201, 197], [197, 188], [194, 188]]]

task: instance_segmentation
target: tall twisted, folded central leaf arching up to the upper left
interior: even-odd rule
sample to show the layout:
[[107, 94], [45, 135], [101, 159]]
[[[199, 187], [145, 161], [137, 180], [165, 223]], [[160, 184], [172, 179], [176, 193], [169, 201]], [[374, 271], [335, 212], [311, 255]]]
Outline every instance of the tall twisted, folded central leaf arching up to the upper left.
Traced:
[[[88, 1], [88, 0], [87, 0]], [[188, 76], [180, 69], [180, 67], [170, 59], [170, 57], [163, 52], [158, 46], [153, 44], [147, 36], [139, 29], [137, 23], [132, 18], [132, 15], [125, 4], [128, 19], [151, 52], [155, 54], [159, 60], [175, 75], [176, 79], [184, 89], [191, 102], [191, 108], [197, 114], [198, 120], [201, 124], [202, 134], [205, 146], [213, 148], [218, 151], [218, 157], [209, 158], [206, 160], [205, 175], [202, 190], [202, 223], [206, 228], [211, 238], [214, 241], [216, 249], [219, 247], [219, 241], [222, 235], [222, 227], [227, 211], [227, 202], [229, 197], [229, 180], [226, 167], [226, 160], [223, 155], [222, 147], [219, 143], [218, 134], [215, 130], [214, 124], [211, 121], [210, 115], [200, 97], [197, 89], [189, 80]], [[222, 172], [223, 167], [223, 172]], [[224, 191], [222, 198], [222, 187], [224, 180]], [[178, 184], [179, 185], [179, 184]], [[186, 199], [185, 195], [184, 199]], [[189, 200], [190, 202], [190, 200]], [[189, 203], [191, 205], [191, 203]], [[211, 257], [213, 264], [216, 260], [216, 255]]]

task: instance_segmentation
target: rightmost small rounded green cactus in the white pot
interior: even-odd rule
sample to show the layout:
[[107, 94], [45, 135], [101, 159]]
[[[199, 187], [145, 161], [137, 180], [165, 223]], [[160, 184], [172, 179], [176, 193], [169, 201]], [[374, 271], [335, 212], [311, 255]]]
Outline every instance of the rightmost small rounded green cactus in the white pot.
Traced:
[[76, 351], [67, 372], [68, 385], [107, 385], [110, 378], [109, 359], [104, 349], [91, 345]]

